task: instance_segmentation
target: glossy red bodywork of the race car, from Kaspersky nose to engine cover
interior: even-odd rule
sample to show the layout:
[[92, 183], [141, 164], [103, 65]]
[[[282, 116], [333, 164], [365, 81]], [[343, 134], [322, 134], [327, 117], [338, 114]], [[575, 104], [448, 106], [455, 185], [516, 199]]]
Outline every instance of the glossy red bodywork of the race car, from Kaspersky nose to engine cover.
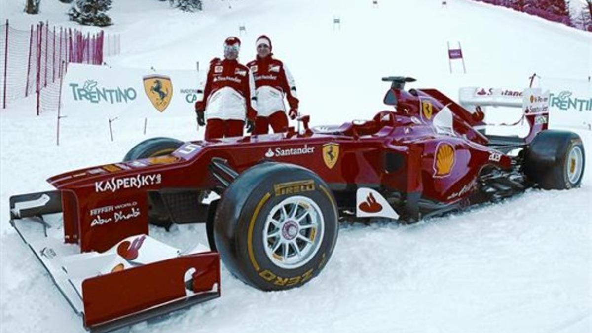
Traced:
[[[213, 158], [226, 159], [239, 174], [266, 160], [301, 165], [323, 178], [342, 206], [355, 202], [358, 187], [451, 204], [471, 194], [486, 165], [511, 167], [509, 156], [488, 147], [487, 137], [473, 128], [480, 120], [439, 91], [391, 89], [385, 103], [396, 110], [372, 120], [188, 142], [168, 156], [49, 178], [62, 190], [65, 241], [79, 243], [82, 251], [104, 251], [127, 236], [147, 233], [148, 191], [215, 188], [219, 184], [208, 169]], [[453, 131], [433, 122], [441, 112], [450, 113], [441, 118]], [[105, 222], [108, 215], [97, 212], [111, 206], [126, 207], [127, 218]]]

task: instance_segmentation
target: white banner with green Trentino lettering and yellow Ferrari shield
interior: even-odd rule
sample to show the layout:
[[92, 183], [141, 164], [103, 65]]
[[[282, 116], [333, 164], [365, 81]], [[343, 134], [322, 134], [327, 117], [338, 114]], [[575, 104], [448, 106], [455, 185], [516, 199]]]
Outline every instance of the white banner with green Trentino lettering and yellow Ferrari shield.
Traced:
[[62, 115], [85, 119], [186, 117], [205, 73], [70, 63], [62, 85]]

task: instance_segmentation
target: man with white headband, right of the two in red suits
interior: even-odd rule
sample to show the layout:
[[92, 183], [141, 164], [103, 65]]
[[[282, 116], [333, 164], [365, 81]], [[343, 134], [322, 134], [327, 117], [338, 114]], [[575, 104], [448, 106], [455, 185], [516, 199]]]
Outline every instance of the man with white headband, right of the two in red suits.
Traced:
[[255, 78], [257, 97], [257, 118], [253, 134], [268, 133], [269, 126], [275, 133], [284, 132], [288, 127], [284, 97], [288, 99], [290, 119], [298, 116], [298, 98], [294, 78], [288, 68], [271, 53], [271, 40], [259, 36], [255, 43], [257, 58], [247, 63]]

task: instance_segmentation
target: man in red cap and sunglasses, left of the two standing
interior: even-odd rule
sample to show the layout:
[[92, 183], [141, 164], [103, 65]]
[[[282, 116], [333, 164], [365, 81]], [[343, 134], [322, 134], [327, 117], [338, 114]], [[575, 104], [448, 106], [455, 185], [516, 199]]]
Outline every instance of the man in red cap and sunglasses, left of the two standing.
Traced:
[[[247, 132], [252, 132], [257, 111], [255, 84], [249, 68], [238, 62], [240, 40], [224, 41], [224, 60], [210, 62], [204, 98], [195, 103], [197, 122], [205, 126], [205, 139], [242, 136], [245, 119]], [[207, 125], [205, 123], [207, 119]]]

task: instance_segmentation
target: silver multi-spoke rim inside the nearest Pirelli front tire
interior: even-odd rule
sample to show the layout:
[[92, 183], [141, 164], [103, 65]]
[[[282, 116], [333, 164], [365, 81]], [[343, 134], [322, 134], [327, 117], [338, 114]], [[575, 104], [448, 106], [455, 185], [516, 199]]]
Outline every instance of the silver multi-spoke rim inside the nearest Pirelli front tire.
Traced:
[[312, 199], [286, 198], [271, 209], [265, 221], [265, 254], [279, 267], [302, 267], [317, 254], [323, 242], [324, 225], [323, 214]]

